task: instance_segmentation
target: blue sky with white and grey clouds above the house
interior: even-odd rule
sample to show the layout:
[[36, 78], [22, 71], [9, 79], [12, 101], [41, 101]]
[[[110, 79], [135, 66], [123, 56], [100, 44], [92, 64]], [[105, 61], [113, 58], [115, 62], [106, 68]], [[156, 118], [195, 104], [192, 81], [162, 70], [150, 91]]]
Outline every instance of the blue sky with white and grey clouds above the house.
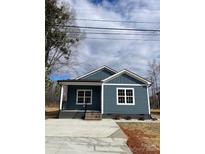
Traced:
[[[160, 29], [159, 0], [65, 0], [76, 12], [77, 19], [137, 21], [153, 23], [99, 22], [77, 20], [79, 26]], [[87, 30], [92, 32], [147, 33], [134, 31]], [[86, 34], [92, 38], [139, 40], [84, 39], [77, 47], [72, 69], [64, 68], [57, 79], [74, 78], [90, 69], [107, 65], [120, 71], [129, 69], [146, 76], [147, 64], [160, 58], [159, 35], [106, 35]], [[146, 40], [146, 41], [145, 41]], [[148, 41], [149, 40], [149, 41]], [[155, 40], [155, 41], [150, 41]]]

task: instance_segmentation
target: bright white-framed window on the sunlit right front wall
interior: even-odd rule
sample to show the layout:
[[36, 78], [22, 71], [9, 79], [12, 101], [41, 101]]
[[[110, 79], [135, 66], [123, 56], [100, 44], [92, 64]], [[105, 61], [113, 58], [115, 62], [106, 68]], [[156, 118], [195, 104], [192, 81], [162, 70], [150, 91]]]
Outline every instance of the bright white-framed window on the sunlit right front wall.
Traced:
[[117, 88], [117, 105], [135, 105], [134, 88]]

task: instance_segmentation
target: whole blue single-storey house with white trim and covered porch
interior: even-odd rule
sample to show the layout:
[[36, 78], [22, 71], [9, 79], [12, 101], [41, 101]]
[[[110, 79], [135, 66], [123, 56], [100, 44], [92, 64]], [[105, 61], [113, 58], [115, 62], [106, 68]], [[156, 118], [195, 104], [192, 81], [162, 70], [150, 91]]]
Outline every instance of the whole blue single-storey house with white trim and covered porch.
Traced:
[[58, 83], [62, 85], [59, 118], [150, 117], [151, 83], [131, 71], [103, 66]]

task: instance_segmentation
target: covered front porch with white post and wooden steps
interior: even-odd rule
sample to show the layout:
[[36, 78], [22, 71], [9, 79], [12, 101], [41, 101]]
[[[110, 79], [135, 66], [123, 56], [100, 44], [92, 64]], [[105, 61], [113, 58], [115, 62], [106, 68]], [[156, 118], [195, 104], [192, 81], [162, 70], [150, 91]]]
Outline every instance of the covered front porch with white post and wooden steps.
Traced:
[[[102, 85], [99, 82], [92, 82], [92, 84], [65, 82], [61, 83], [61, 86], [59, 118], [83, 118], [86, 120], [102, 118], [103, 95]], [[86, 90], [89, 93], [86, 93]]]

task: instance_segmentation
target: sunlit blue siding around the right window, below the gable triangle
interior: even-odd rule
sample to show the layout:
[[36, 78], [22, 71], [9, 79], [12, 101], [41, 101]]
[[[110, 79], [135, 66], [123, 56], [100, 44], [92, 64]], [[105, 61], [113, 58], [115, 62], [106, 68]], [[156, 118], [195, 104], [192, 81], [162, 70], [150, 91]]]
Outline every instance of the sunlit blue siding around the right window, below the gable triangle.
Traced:
[[[117, 105], [117, 87], [134, 88], [135, 105]], [[104, 85], [104, 114], [149, 114], [147, 87]]]

